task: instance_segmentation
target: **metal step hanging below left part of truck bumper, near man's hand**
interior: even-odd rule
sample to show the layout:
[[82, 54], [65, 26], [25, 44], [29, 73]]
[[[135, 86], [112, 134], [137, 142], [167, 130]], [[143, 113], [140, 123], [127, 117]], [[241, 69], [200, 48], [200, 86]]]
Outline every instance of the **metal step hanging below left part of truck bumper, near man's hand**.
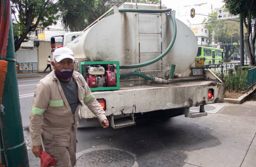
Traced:
[[130, 114], [129, 117], [123, 117], [115, 120], [114, 120], [114, 115], [110, 115], [110, 118], [111, 118], [110, 126], [114, 129], [135, 125], [133, 114]]

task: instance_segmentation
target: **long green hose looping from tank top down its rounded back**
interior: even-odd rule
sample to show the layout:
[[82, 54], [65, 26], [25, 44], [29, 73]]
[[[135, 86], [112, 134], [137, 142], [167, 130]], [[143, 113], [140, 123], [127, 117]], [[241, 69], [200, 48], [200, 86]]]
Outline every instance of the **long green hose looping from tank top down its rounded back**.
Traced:
[[[171, 10], [171, 9], [160, 9], [160, 10], [156, 10], [156, 13], [160, 13], [160, 11], [166, 11], [166, 10]], [[152, 13], [155, 10], [150, 10], [150, 9], [119, 9], [119, 12], [144, 12], [144, 13]], [[120, 65], [120, 69], [126, 69], [126, 68], [139, 68], [139, 67], [144, 67], [144, 66], [148, 66], [150, 64], [153, 64], [155, 62], [157, 62], [158, 60], [162, 59], [172, 48], [175, 39], [176, 39], [176, 34], [177, 34], [177, 27], [176, 27], [176, 21], [175, 18], [173, 17], [171, 12], [168, 12], [171, 20], [172, 20], [172, 25], [173, 25], [173, 36], [172, 36], [172, 40], [168, 46], [168, 48], [158, 57], [154, 58], [153, 60], [147, 61], [145, 63], [141, 63], [141, 64], [135, 64], [135, 65]]]

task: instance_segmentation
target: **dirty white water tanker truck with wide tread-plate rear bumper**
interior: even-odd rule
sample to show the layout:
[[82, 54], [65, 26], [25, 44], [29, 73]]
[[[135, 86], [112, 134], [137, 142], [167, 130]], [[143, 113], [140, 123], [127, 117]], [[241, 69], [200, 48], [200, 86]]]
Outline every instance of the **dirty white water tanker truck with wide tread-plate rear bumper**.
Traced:
[[[206, 116], [204, 105], [223, 102], [224, 84], [196, 58], [197, 39], [174, 10], [144, 3], [105, 5], [112, 8], [96, 22], [65, 34], [71, 42], [63, 47], [73, 50], [111, 127], [132, 126], [145, 116]], [[192, 106], [200, 106], [199, 112], [190, 112]], [[94, 126], [94, 119], [83, 106], [79, 127]]]

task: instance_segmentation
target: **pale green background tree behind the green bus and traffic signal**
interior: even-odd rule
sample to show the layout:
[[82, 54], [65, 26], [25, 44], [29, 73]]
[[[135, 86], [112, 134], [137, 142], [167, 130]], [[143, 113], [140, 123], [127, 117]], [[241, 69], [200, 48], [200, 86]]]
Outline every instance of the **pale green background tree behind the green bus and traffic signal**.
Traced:
[[[217, 16], [217, 12], [215, 11], [209, 15]], [[228, 62], [234, 50], [239, 48], [239, 45], [230, 45], [233, 42], [239, 43], [239, 23], [231, 20], [217, 20], [213, 17], [206, 18], [203, 23], [205, 23], [204, 27], [209, 31], [209, 41], [212, 39], [212, 31], [214, 30], [215, 43], [226, 44], [220, 47], [225, 53], [224, 61]]]

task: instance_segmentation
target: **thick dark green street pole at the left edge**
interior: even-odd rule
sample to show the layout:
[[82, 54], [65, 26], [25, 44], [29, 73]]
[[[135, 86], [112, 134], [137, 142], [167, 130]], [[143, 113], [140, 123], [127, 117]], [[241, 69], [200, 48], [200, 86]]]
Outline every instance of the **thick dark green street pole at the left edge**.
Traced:
[[[13, 24], [10, 17], [7, 54], [7, 74], [3, 89], [1, 118], [1, 159], [6, 167], [28, 167], [28, 153], [24, 140], [20, 114], [20, 101], [16, 72], [16, 60], [13, 41]], [[2, 39], [1, 39], [2, 40]]]

